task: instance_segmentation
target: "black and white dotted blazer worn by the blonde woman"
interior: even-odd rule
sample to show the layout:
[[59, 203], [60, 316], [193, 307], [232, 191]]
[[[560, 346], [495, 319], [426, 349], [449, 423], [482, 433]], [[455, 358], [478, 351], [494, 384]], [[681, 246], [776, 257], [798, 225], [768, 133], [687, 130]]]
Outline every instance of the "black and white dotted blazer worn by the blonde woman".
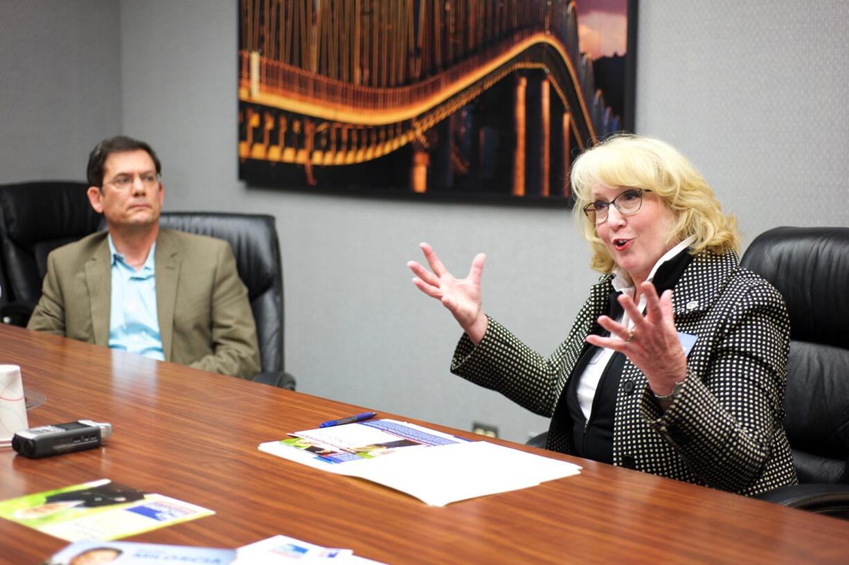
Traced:
[[[490, 318], [476, 347], [464, 335], [451, 370], [551, 417], [597, 319], [611, 275], [593, 285], [565, 342], [546, 359]], [[784, 432], [790, 319], [779, 292], [739, 266], [733, 251], [695, 255], [673, 289], [679, 332], [697, 336], [688, 376], [666, 412], [644, 374], [625, 361], [616, 395], [613, 462], [743, 495], [796, 484]], [[572, 453], [571, 428], [552, 428], [548, 449]]]

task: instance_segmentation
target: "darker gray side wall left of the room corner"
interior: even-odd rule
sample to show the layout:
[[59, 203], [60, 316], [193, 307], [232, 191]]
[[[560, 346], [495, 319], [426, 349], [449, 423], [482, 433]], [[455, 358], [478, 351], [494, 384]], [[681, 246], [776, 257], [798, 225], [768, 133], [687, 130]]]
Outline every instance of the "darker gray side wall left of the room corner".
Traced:
[[120, 35], [110, 0], [0, 0], [0, 182], [85, 177], [121, 131]]

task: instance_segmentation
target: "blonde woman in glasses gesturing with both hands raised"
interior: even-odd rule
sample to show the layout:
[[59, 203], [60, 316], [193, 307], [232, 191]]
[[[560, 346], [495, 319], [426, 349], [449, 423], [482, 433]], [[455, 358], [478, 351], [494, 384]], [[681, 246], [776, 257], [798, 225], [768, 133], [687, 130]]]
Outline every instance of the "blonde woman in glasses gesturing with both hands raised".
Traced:
[[576, 159], [576, 220], [602, 273], [544, 357], [486, 316], [486, 256], [457, 279], [422, 243], [413, 283], [464, 330], [455, 374], [551, 417], [546, 447], [756, 495], [796, 484], [782, 426], [790, 319], [739, 266], [739, 235], [670, 145], [618, 135]]

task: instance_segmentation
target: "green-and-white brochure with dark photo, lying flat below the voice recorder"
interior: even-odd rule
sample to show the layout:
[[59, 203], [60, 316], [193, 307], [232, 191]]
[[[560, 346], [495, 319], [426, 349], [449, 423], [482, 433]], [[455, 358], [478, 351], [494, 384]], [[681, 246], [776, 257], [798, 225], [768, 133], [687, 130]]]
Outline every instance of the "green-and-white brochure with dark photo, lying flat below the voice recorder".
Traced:
[[116, 540], [212, 514], [108, 478], [0, 501], [0, 517], [67, 541]]

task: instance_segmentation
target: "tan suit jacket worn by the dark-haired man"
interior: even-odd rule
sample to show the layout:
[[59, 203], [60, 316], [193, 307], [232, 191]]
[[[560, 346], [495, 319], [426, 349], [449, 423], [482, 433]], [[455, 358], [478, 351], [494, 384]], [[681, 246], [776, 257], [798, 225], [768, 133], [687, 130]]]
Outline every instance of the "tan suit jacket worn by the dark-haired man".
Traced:
[[[111, 268], [107, 232], [55, 249], [27, 327], [108, 347]], [[260, 372], [256, 324], [229, 243], [160, 230], [155, 277], [166, 361], [240, 378]]]

